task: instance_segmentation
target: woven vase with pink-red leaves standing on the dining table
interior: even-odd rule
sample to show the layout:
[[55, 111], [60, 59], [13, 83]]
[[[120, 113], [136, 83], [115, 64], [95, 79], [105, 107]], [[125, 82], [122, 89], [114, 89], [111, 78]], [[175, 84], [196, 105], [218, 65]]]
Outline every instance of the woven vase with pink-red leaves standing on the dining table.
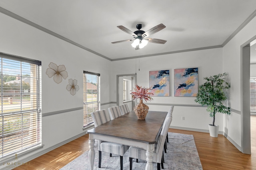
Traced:
[[148, 106], [146, 104], [143, 103], [143, 99], [147, 102], [150, 100], [153, 100], [150, 95], [154, 95], [153, 93], [151, 93], [150, 91], [152, 90], [152, 88], [142, 88], [141, 86], [138, 86], [137, 84], [135, 84], [135, 88], [134, 91], [132, 91], [130, 94], [132, 94], [132, 99], [136, 100], [136, 99], [140, 99], [140, 103], [137, 104], [136, 106], [134, 106], [134, 112], [136, 114], [136, 116], [138, 117], [139, 120], [145, 120], [146, 115], [148, 113]]

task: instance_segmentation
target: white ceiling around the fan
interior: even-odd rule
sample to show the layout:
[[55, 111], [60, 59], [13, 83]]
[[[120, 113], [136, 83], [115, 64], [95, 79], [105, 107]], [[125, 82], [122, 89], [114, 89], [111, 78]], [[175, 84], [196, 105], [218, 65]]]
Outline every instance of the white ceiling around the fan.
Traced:
[[[0, 0], [0, 7], [4, 14], [115, 61], [222, 47], [255, 16], [256, 0]], [[111, 43], [133, 38], [116, 26], [136, 31], [138, 23], [144, 31], [163, 23], [166, 28], [149, 37], [167, 42], [139, 50], [131, 42]]]

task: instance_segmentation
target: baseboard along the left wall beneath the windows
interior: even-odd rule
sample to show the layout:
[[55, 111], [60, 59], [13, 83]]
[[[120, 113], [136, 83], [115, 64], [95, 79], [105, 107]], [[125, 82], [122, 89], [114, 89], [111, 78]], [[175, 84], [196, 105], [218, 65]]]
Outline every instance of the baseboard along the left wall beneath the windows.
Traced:
[[[39, 157], [39, 156], [42, 156], [43, 154], [46, 154], [47, 152], [50, 152], [51, 150], [54, 150], [54, 149], [56, 149], [56, 148], [58, 148], [58, 147], [61, 147], [62, 145], [65, 145], [66, 143], [69, 143], [69, 142], [71, 142], [71, 141], [74, 141], [75, 139], [77, 139], [77, 138], [79, 138], [79, 137], [81, 137], [81, 136], [83, 136], [83, 135], [86, 135], [86, 134], [87, 134], [87, 131], [85, 131], [85, 132], [83, 132], [83, 133], [80, 133], [80, 134], [78, 134], [78, 135], [76, 135], [76, 136], [74, 136], [74, 137], [72, 137], [72, 138], [70, 138], [70, 139], [67, 139], [67, 140], [65, 140], [65, 141], [62, 141], [62, 142], [56, 144], [56, 145], [53, 145], [52, 147], [49, 147], [49, 148], [47, 148], [47, 149], [44, 149], [44, 150], [42, 150], [42, 151], [40, 151], [40, 152], [37, 152], [37, 153], [35, 153], [35, 154], [32, 154], [32, 155], [30, 155], [30, 156], [28, 156], [28, 157], [26, 157], [26, 158], [24, 158], [24, 159], [19, 159], [19, 162], [24, 162], [24, 164], [25, 164], [26, 162], [29, 162], [29, 161], [31, 161], [31, 160], [33, 160], [33, 159]], [[2, 168], [0, 168], [0, 170], [11, 170], [11, 169], [13, 169], [13, 168], [14, 168], [14, 167], [11, 167], [11, 168], [2, 167]]]

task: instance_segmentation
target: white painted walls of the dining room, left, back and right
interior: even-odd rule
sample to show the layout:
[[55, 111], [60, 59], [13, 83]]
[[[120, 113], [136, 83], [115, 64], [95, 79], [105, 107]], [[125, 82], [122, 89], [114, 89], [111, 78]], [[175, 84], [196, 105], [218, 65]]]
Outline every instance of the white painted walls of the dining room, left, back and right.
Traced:
[[[168, 111], [169, 106], [160, 106], [160, 104], [174, 104], [176, 106], [174, 107], [172, 126], [208, 130], [208, 124], [212, 123], [212, 118], [209, 117], [205, 107], [197, 106], [194, 102], [195, 97], [174, 97], [174, 69], [194, 67], [198, 67], [199, 85], [204, 83], [203, 77], [227, 72], [229, 74], [228, 80], [231, 83], [229, 105], [234, 110], [241, 110], [240, 45], [256, 35], [255, 18], [224, 48], [114, 62], [89, 53], [1, 13], [0, 21], [0, 52], [42, 61], [43, 115], [83, 106], [83, 70], [100, 73], [101, 103], [109, 103], [116, 102], [117, 74], [134, 74], [136, 72], [138, 85], [147, 87], [149, 86], [149, 71], [169, 69], [170, 96], [153, 97], [154, 100], [148, 102], [150, 110]], [[146, 50], [146, 48], [140, 50]], [[56, 84], [52, 78], [48, 78], [46, 75], [46, 69], [50, 62], [66, 66], [68, 78], [62, 83]], [[69, 78], [78, 80], [80, 87], [74, 96], [66, 90]], [[101, 109], [107, 109], [110, 106], [112, 104], [104, 105]], [[44, 116], [42, 118], [42, 144], [44, 148], [39, 151], [42, 152], [83, 133], [82, 114], [82, 110], [78, 110]], [[182, 121], [181, 116], [184, 116], [185, 120]], [[220, 125], [220, 131], [225, 131], [238, 145], [241, 144], [240, 122], [241, 117], [238, 113], [232, 112], [230, 116], [216, 115], [216, 124]], [[0, 166], [1, 168], [3, 167]]]

